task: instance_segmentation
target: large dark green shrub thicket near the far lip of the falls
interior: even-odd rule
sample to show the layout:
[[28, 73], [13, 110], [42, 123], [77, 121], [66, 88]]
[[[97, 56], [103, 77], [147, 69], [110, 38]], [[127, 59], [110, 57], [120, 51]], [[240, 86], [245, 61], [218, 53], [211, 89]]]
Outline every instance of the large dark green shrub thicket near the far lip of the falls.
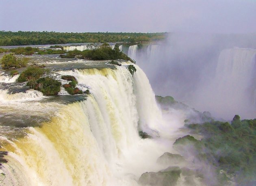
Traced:
[[115, 59], [123, 59], [127, 61], [131, 61], [135, 63], [131, 58], [129, 58], [126, 54], [119, 51], [118, 47], [114, 49], [108, 43], [103, 43], [100, 47], [95, 48], [93, 50], [72, 50], [67, 52], [67, 55], [61, 55], [61, 58], [74, 58], [75, 56], [79, 56], [78, 58], [82, 59], [92, 59], [92, 60], [115, 60]]

